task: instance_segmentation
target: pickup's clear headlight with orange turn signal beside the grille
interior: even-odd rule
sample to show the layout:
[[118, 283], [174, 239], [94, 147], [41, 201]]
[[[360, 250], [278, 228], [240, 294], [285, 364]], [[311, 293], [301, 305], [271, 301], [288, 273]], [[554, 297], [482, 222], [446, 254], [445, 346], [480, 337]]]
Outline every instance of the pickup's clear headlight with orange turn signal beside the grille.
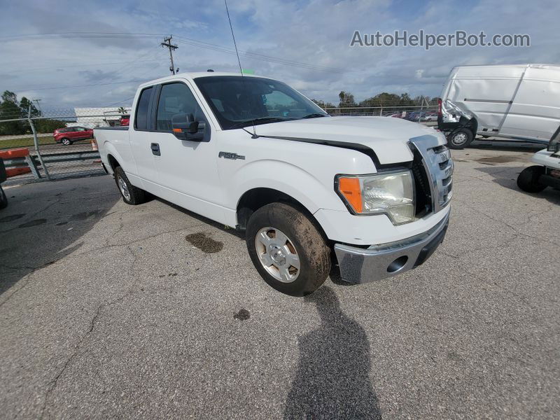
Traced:
[[395, 225], [414, 221], [414, 181], [409, 170], [338, 175], [335, 184], [354, 214], [386, 214]]

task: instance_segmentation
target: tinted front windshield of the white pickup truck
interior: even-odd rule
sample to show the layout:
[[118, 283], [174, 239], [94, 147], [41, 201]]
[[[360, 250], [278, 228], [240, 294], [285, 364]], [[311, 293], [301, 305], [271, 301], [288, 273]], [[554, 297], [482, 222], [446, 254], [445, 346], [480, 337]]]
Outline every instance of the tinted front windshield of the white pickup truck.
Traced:
[[223, 130], [283, 120], [328, 116], [286, 83], [244, 76], [195, 78]]

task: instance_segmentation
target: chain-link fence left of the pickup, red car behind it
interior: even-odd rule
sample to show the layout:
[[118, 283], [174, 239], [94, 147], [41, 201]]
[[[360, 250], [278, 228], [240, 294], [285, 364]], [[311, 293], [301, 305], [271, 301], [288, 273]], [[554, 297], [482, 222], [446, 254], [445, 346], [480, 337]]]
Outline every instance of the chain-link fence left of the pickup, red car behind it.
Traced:
[[0, 119], [0, 158], [14, 181], [102, 174], [93, 140], [96, 127], [127, 125], [130, 108], [41, 111], [27, 118]]

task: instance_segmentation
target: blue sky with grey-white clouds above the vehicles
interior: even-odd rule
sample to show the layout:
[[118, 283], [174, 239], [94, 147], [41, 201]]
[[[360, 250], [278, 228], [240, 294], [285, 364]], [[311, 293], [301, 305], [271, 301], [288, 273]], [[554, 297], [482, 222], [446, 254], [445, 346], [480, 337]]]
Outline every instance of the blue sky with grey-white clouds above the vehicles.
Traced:
[[[560, 2], [230, 0], [241, 66], [307, 97], [360, 101], [380, 92], [438, 96], [451, 68], [468, 64], [560, 64]], [[0, 92], [41, 106], [127, 106], [139, 83], [170, 74], [173, 35], [180, 73], [239, 71], [223, 0], [0, 0]], [[449, 34], [529, 34], [531, 46], [349, 46], [354, 31], [423, 29]]]

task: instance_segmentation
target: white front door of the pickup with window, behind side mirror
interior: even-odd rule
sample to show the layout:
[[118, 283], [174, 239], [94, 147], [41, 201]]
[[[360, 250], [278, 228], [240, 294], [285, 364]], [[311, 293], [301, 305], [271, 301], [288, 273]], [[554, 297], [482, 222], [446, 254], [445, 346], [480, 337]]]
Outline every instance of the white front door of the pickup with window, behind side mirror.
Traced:
[[[216, 141], [212, 139], [209, 118], [186, 81], [161, 85], [155, 102], [155, 132], [151, 141], [158, 145], [155, 157], [160, 197], [203, 214], [215, 221], [223, 220], [223, 207]], [[177, 139], [172, 132], [176, 113], [192, 114], [206, 125], [203, 141]]]

